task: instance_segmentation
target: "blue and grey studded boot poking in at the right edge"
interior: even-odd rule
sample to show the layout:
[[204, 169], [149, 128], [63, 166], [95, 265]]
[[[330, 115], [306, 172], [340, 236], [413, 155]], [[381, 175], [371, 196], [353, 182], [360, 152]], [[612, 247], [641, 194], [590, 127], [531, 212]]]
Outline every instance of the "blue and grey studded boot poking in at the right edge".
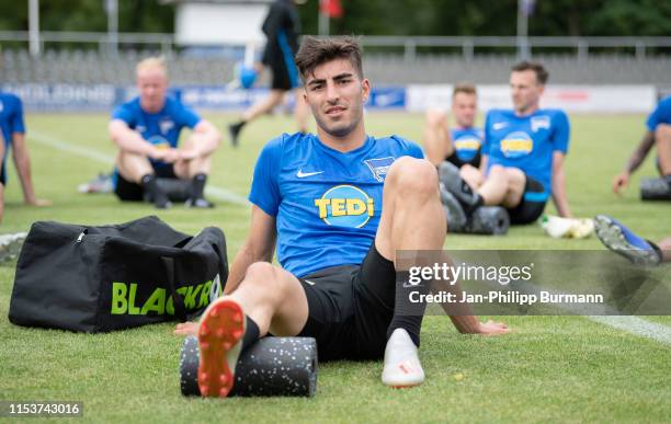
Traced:
[[613, 252], [618, 253], [635, 264], [657, 265], [671, 261], [671, 237], [658, 241], [645, 240], [627, 227], [606, 215], [594, 218], [599, 240]]

